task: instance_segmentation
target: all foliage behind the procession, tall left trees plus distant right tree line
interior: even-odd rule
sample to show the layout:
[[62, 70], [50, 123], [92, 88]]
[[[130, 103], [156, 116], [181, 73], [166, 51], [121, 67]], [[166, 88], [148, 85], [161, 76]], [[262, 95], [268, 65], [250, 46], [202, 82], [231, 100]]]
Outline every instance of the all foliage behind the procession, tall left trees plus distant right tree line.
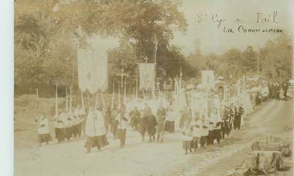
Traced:
[[185, 58], [171, 44], [174, 31], [185, 32], [188, 26], [180, 5], [181, 1], [172, 0], [15, 1], [16, 94], [33, 93], [36, 88], [48, 91], [56, 81], [77, 89], [77, 48], [88, 45], [86, 38], [94, 34], [120, 40], [118, 48], [108, 53], [110, 87], [114, 74], [122, 69], [130, 75], [128, 84], [135, 84], [136, 63], [145, 62], [145, 57], [154, 62], [155, 35], [157, 77], [176, 77], [180, 67], [186, 78], [202, 69], [237, 77], [256, 72], [257, 55], [263, 75], [290, 77], [292, 44], [285, 35], [269, 40], [260, 50], [249, 46], [223, 55], [192, 53]]

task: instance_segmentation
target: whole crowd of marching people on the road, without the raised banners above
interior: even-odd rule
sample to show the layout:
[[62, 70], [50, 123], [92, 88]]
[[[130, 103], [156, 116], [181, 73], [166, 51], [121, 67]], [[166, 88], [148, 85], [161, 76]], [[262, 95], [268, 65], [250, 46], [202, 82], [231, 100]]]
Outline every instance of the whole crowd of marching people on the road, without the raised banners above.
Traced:
[[[230, 94], [227, 89], [230, 87], [220, 86], [209, 94], [207, 90], [203, 94], [198, 94], [201, 91], [166, 93], [166, 96], [157, 99], [134, 97], [113, 108], [103, 104], [86, 107], [77, 105], [68, 110], [60, 108], [53, 118], [55, 138], [58, 143], [62, 143], [86, 136], [84, 147], [86, 153], [90, 153], [91, 148], [101, 150], [109, 145], [108, 133], [113, 134], [114, 140], [119, 139], [120, 148], [123, 148], [127, 130], [140, 133], [142, 142], [145, 142], [147, 136], [148, 143], [163, 143], [166, 133], [172, 135], [175, 131], [181, 131], [182, 147], [187, 154], [199, 147], [220, 143], [232, 131], [240, 130], [244, 124], [244, 115], [253, 111], [254, 103], [259, 106], [268, 99], [292, 97], [290, 84], [262, 84], [257, 93], [236, 91]], [[284, 97], [281, 97], [282, 91]], [[38, 125], [38, 143], [41, 145], [52, 141], [47, 116], [40, 114], [35, 123]]]

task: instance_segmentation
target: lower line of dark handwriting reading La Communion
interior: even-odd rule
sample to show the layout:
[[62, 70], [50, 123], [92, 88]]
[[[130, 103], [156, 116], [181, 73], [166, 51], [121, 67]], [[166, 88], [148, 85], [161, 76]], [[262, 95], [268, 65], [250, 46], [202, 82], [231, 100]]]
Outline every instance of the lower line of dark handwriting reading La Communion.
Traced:
[[[223, 27], [224, 33], [234, 33], [235, 31], [232, 28]], [[244, 28], [244, 26], [240, 25], [237, 28], [237, 32], [239, 33], [284, 33], [281, 28]]]

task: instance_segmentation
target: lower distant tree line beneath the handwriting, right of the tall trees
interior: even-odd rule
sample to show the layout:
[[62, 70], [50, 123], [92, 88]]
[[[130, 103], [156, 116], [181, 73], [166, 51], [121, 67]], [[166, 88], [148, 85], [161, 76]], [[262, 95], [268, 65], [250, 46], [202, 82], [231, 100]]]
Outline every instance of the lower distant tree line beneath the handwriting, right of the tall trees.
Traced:
[[[242, 75], [261, 75], [271, 81], [291, 78], [293, 44], [289, 35], [278, 35], [261, 48], [248, 46], [245, 50], [232, 48], [222, 55], [202, 55], [199, 50], [188, 55], [188, 62], [198, 70], [215, 70], [217, 76], [233, 79]], [[258, 63], [259, 62], [259, 63]], [[259, 66], [258, 66], [259, 65]], [[259, 67], [259, 72], [257, 71]]]

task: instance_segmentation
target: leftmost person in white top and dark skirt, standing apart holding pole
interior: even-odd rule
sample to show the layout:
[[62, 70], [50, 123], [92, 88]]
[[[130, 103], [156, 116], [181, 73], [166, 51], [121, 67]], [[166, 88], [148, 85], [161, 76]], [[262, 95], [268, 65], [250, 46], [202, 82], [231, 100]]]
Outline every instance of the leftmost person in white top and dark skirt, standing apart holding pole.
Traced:
[[38, 143], [40, 144], [40, 146], [42, 145], [42, 143], [46, 143], [48, 145], [49, 141], [52, 141], [52, 137], [49, 131], [47, 116], [45, 116], [45, 114], [43, 113], [40, 114], [40, 116], [35, 119], [35, 124], [38, 128]]

